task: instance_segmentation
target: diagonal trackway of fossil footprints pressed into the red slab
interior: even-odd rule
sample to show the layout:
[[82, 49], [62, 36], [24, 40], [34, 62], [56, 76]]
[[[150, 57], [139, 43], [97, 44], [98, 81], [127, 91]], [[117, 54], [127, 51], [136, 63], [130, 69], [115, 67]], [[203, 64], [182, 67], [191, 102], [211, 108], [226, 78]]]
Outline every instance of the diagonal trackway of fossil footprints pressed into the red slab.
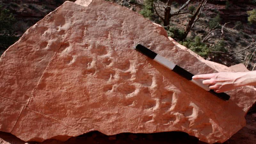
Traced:
[[[72, 15], [70, 13], [69, 15]], [[101, 17], [99, 17], [99, 15]], [[82, 47], [81, 53], [78, 55], [72, 54], [74, 45], [70, 45], [68, 41], [65, 43], [58, 43], [58, 41], [48, 41], [39, 44], [39, 49], [51, 50], [60, 53], [63, 58], [63, 64], [73, 66], [82, 69], [81, 75], [85, 77], [92, 77], [102, 80], [102, 91], [107, 95], [113, 95], [119, 93], [120, 102], [125, 107], [142, 108], [143, 117], [142, 121], [145, 123], [155, 122], [156, 117], [161, 117], [160, 123], [163, 125], [173, 124], [174, 122], [181, 122], [196, 113], [196, 109], [193, 107], [185, 108], [183, 111], [172, 113], [177, 105], [177, 99], [175, 92], [164, 88], [163, 82], [156, 82], [153, 74], [148, 74], [143, 71], [143, 66], [136, 67], [133, 65], [132, 60], [123, 60], [122, 56], [116, 54], [115, 50], [111, 46], [97, 42], [97, 40], [91, 40], [91, 42], [84, 42], [83, 39], [89, 33], [95, 35], [95, 37], [102, 37], [104, 40], [108, 39], [108, 44], [114, 44], [113, 36], [109, 33], [108, 29], [103, 30], [100, 35], [89, 32], [89, 25], [73, 24], [70, 27], [70, 23], [66, 22], [63, 16], [60, 19], [53, 20], [56, 31], [59, 35], [62, 35], [62, 40], [68, 37], [78, 44], [78, 48]], [[108, 21], [102, 13], [97, 13], [97, 18]], [[78, 28], [76, 28], [78, 27]], [[68, 30], [69, 28], [76, 28], [80, 30]], [[52, 37], [51, 32], [47, 27], [38, 27], [39, 33], [43, 36]], [[68, 30], [68, 32], [66, 32]], [[72, 33], [70, 33], [72, 31]], [[119, 35], [129, 34], [125, 29], [119, 30]], [[133, 42], [134, 43], [134, 42]], [[128, 44], [128, 43], [127, 43]], [[132, 45], [132, 44], [129, 44]], [[152, 45], [152, 44], [149, 44]], [[151, 46], [151, 49], [155, 49], [155, 45]], [[78, 50], [79, 51], [79, 50]], [[117, 61], [118, 60], [118, 61]], [[159, 78], [158, 78], [159, 79]], [[118, 85], [117, 85], [118, 84]], [[161, 91], [158, 88], [161, 87]], [[138, 100], [143, 99], [141, 103]], [[176, 110], [177, 111], [177, 110]], [[180, 119], [180, 117], [183, 117]], [[189, 122], [184, 122], [188, 125]]]

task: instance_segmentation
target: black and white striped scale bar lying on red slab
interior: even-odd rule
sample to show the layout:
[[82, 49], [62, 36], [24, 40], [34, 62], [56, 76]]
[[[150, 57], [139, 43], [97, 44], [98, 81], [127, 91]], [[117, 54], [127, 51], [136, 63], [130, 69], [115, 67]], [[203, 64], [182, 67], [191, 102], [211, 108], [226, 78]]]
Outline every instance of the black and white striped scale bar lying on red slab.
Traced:
[[219, 97], [222, 100], [229, 100], [230, 96], [224, 92], [222, 93], [216, 93], [213, 90], [209, 89], [208, 85], [203, 84], [203, 80], [201, 79], [192, 79], [192, 76], [194, 76], [193, 74], [191, 74], [190, 72], [188, 72], [187, 70], [179, 67], [178, 65], [176, 65], [175, 63], [165, 59], [164, 57], [160, 56], [159, 54], [157, 54], [156, 52], [151, 51], [150, 49], [144, 47], [141, 44], [138, 44], [135, 47], [135, 50], [143, 53], [144, 55], [148, 56], [150, 59], [155, 60], [156, 62], [160, 63], [161, 65], [163, 65], [166, 68], [171, 69], [172, 71], [174, 71], [175, 73], [179, 74], [180, 76], [183, 76], [184, 78], [188, 79], [189, 81], [191, 81], [192, 83], [200, 86], [201, 88], [203, 88], [206, 91], [211, 92], [212, 94], [216, 95], [217, 97]]

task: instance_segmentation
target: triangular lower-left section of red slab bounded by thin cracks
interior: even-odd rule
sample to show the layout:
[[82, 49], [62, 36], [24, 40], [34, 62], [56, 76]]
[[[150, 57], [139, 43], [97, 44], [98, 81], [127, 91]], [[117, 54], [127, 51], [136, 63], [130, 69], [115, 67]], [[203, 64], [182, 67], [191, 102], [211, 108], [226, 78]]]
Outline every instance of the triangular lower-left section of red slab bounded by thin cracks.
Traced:
[[[27, 125], [29, 124], [29, 125]], [[83, 134], [55, 118], [24, 108], [12, 132], [24, 141], [42, 142], [47, 139], [68, 140], [70, 136]], [[52, 135], [54, 133], [54, 135]]]

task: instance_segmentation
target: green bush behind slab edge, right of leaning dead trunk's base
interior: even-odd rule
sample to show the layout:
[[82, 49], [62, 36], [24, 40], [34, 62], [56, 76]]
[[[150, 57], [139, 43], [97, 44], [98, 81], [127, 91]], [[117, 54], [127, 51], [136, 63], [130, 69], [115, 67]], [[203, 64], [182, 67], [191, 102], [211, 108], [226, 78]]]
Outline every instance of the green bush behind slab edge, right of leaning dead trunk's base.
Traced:
[[186, 46], [204, 58], [207, 58], [211, 52], [208, 45], [201, 42], [201, 38], [199, 36], [195, 36], [194, 40], [186, 39], [184, 42], [180, 42], [180, 44]]

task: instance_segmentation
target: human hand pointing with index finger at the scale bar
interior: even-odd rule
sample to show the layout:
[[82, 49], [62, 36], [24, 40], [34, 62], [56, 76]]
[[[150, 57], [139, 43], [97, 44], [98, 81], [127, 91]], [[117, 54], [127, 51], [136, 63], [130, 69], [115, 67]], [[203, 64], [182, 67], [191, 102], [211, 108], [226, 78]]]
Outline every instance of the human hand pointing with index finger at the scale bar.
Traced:
[[203, 84], [209, 85], [209, 88], [215, 92], [226, 92], [237, 87], [243, 86], [242, 72], [219, 72], [212, 74], [203, 74], [193, 76], [193, 79], [204, 79]]

